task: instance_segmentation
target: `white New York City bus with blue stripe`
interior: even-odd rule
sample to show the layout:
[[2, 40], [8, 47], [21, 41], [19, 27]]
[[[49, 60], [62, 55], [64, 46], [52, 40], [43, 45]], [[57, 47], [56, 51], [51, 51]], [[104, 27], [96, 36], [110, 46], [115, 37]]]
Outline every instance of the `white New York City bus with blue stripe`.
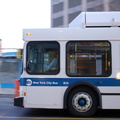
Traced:
[[15, 106], [82, 117], [120, 109], [119, 12], [83, 12], [69, 28], [24, 29], [23, 40]]

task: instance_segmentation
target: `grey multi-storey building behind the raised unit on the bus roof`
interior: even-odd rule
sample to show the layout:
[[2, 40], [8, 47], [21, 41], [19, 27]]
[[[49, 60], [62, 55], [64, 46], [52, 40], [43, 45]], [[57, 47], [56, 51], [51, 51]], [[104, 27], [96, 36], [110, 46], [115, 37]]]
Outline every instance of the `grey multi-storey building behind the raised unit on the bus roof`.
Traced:
[[87, 11], [120, 11], [120, 0], [51, 0], [51, 27], [68, 27]]

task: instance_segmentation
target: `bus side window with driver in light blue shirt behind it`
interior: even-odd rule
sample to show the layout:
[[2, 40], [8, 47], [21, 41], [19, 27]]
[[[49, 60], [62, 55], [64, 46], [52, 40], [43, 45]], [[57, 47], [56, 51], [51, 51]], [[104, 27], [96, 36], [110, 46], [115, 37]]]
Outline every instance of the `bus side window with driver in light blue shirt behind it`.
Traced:
[[59, 44], [57, 42], [29, 42], [26, 64], [29, 74], [57, 74], [59, 72]]

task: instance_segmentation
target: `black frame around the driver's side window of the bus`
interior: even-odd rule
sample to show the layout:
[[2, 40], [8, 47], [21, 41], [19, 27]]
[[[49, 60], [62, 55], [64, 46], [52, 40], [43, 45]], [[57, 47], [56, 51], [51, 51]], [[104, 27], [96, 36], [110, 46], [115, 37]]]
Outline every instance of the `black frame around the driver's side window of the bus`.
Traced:
[[[36, 73], [36, 72], [30, 72], [29, 70], [28, 70], [28, 68], [27, 68], [27, 62], [28, 62], [28, 46], [29, 46], [29, 44], [31, 44], [31, 43], [41, 43], [41, 44], [45, 44], [45, 43], [56, 43], [56, 44], [58, 44], [58, 71], [57, 72], [41, 72], [41, 73]], [[43, 46], [43, 49], [45, 49], [44, 48], [44, 45], [42, 45]], [[43, 59], [43, 58], [42, 58]], [[42, 66], [43, 67], [43, 66]], [[57, 75], [59, 72], [60, 72], [60, 44], [59, 44], [59, 42], [58, 41], [29, 41], [28, 43], [27, 43], [27, 45], [26, 45], [26, 66], [25, 66], [25, 68], [26, 68], [26, 72], [28, 73], [28, 74], [30, 74], [30, 75]]]

